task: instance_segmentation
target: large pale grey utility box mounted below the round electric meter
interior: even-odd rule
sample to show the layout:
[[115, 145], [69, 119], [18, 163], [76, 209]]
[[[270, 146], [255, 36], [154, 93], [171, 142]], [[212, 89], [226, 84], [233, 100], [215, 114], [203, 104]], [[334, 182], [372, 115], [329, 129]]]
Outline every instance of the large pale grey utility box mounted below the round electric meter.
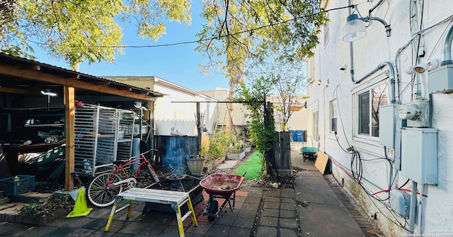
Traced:
[[416, 183], [437, 185], [437, 129], [401, 130], [401, 175]]

